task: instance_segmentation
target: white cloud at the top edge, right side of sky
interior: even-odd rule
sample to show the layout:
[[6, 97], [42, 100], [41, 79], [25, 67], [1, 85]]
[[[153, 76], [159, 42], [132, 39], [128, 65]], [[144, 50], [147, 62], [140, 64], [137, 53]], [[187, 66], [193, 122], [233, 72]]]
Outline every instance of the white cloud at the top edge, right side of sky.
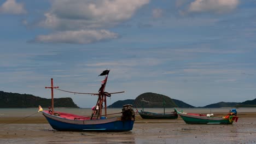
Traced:
[[238, 3], [238, 0], [195, 0], [190, 3], [188, 11], [196, 13], [212, 12], [222, 14], [234, 10]]

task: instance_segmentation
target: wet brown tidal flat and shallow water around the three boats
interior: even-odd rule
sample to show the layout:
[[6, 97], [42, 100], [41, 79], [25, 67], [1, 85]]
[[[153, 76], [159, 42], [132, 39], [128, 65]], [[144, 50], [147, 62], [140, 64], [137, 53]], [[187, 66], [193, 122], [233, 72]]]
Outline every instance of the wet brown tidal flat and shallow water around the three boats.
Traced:
[[[43, 109], [48, 109], [44, 108]], [[177, 108], [188, 113], [228, 113], [235, 107], [223, 108]], [[55, 111], [90, 116], [90, 108], [55, 108]], [[137, 108], [135, 112], [144, 110], [156, 113], [168, 113], [174, 108]], [[22, 123], [43, 117], [38, 108], [0, 109], [1, 119], [8, 118], [8, 124], [0, 123], [0, 143], [256, 143], [256, 108], [238, 108], [240, 113], [252, 113], [253, 116], [241, 116], [237, 123], [230, 125], [197, 125], [186, 124], [178, 119], [142, 119], [136, 115], [131, 131], [124, 132], [92, 132], [92, 131], [57, 131], [45, 123]], [[119, 113], [121, 109], [108, 109], [107, 113]], [[248, 115], [248, 114], [247, 114]], [[110, 116], [110, 115], [109, 115]], [[15, 123], [15, 119], [22, 119]], [[32, 119], [32, 120], [31, 120]], [[15, 119], [17, 121], [17, 119]], [[14, 123], [12, 123], [14, 122]]]

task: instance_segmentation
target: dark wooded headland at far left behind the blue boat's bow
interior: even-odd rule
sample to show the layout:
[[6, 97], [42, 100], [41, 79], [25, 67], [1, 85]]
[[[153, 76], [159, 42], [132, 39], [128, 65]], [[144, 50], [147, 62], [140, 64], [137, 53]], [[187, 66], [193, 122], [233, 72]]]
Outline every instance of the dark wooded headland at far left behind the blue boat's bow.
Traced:
[[[36, 97], [31, 94], [7, 93], [0, 91], [0, 108], [48, 107], [51, 99]], [[54, 107], [78, 107], [71, 98], [55, 98]]]

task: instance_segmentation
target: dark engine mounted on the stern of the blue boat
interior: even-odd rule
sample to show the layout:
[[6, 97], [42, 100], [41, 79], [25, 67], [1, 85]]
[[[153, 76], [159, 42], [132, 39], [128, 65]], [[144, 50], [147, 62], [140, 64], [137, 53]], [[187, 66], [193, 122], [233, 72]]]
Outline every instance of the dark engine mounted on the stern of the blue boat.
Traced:
[[135, 112], [132, 109], [131, 104], [123, 105], [123, 115], [121, 120], [122, 121], [127, 121], [127, 120], [132, 120], [135, 121]]

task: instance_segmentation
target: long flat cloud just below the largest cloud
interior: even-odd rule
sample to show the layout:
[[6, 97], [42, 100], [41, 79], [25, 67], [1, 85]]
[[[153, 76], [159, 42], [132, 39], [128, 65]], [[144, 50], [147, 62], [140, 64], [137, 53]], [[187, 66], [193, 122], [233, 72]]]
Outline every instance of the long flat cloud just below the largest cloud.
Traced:
[[38, 35], [36, 39], [30, 41], [34, 43], [69, 43], [69, 44], [89, 44], [96, 41], [116, 39], [117, 33], [106, 30], [80, 30], [80, 31], [60, 31], [48, 35]]

